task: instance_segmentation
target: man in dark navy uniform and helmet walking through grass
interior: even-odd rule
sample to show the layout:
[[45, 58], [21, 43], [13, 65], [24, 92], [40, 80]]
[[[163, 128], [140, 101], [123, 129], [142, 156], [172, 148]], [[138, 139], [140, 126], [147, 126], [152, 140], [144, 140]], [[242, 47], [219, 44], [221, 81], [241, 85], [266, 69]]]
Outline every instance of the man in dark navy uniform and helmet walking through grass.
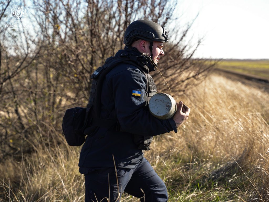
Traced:
[[[96, 127], [88, 134], [79, 159], [85, 175], [85, 201], [120, 201], [123, 191], [141, 201], [167, 201], [162, 179], [143, 157], [152, 136], [170, 131], [187, 118], [190, 109], [180, 101], [173, 118], [160, 120], [150, 114], [148, 100], [157, 90], [152, 77], [168, 42], [166, 30], [148, 20], [137, 20], [125, 31], [123, 50], [115, 57], [129, 57], [105, 76], [101, 91], [100, 118], [118, 121], [117, 126]], [[115, 58], [114, 57], [114, 58]], [[107, 62], [113, 62], [113, 58]], [[116, 170], [115, 170], [116, 166]]]

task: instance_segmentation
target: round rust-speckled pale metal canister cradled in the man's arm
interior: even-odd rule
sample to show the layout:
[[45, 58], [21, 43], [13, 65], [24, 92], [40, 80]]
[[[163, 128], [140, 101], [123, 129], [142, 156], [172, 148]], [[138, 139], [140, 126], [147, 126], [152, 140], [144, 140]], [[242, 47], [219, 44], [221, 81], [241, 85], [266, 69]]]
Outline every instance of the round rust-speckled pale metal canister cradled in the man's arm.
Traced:
[[156, 93], [151, 97], [148, 108], [158, 119], [169, 119], [176, 113], [176, 101], [171, 95]]

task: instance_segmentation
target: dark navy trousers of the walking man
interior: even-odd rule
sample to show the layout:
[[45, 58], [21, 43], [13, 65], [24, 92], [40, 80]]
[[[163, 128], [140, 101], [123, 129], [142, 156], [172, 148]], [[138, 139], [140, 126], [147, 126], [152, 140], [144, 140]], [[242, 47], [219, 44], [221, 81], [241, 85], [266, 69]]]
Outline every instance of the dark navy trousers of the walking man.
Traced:
[[[119, 202], [122, 192], [145, 202], [166, 202], [168, 194], [162, 179], [143, 158], [135, 168], [96, 168], [85, 174], [85, 202]], [[119, 191], [118, 191], [119, 189]], [[109, 197], [110, 193], [110, 197]]]

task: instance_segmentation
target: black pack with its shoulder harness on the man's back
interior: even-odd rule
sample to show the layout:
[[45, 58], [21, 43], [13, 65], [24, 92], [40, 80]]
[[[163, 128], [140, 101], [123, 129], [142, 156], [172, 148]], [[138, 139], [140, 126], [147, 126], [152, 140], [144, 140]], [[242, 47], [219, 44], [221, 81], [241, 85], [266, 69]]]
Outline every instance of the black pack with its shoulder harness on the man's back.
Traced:
[[85, 141], [85, 136], [91, 134], [98, 126], [111, 127], [115, 125], [118, 131], [121, 130], [117, 121], [100, 119], [100, 89], [102, 89], [103, 81], [107, 73], [119, 63], [129, 63], [140, 68], [141, 65], [146, 65], [148, 60], [148, 57], [145, 55], [121, 54], [120, 56], [108, 58], [103, 66], [94, 71], [91, 75], [91, 91], [87, 107], [67, 109], [63, 116], [62, 130], [70, 146], [81, 146]]

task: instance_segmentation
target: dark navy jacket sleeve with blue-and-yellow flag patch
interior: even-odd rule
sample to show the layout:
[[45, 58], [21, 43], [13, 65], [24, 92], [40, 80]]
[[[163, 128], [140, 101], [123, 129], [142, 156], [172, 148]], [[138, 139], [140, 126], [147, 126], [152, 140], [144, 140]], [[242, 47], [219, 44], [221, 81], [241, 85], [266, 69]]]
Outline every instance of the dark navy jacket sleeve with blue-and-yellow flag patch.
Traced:
[[172, 130], [177, 132], [174, 120], [161, 120], [150, 114], [146, 105], [145, 75], [137, 69], [127, 69], [113, 75], [108, 81], [115, 100], [115, 112], [125, 132], [156, 136]]

